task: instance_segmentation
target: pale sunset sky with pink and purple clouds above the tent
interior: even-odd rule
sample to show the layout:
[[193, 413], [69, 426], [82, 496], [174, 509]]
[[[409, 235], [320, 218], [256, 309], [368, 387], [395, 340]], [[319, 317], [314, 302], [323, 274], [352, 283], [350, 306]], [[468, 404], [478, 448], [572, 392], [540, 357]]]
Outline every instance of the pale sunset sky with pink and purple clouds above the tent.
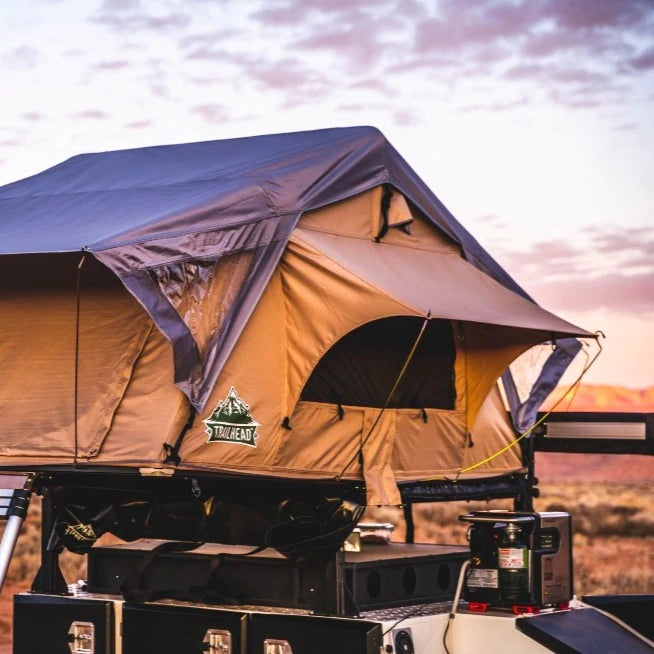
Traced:
[[0, 89], [0, 184], [374, 125], [539, 303], [606, 334], [586, 381], [654, 385], [654, 0], [24, 0]]

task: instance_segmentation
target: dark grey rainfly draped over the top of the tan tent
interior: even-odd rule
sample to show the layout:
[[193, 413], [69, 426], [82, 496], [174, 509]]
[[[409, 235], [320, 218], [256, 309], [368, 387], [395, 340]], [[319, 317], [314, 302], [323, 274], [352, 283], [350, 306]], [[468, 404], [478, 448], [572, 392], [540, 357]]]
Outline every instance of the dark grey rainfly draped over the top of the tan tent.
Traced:
[[[0, 254], [92, 252], [172, 342], [175, 382], [201, 410], [300, 215], [384, 183], [528, 297], [372, 127], [73, 157], [0, 188]], [[252, 255], [248, 275], [201, 356], [158, 269], [239, 252]]]

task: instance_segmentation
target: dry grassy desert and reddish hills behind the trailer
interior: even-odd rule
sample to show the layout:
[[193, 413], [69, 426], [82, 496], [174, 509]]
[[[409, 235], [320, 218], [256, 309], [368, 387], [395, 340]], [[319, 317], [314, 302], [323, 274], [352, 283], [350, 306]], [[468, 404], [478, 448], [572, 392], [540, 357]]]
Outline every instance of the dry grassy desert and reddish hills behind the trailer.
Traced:
[[[550, 399], [550, 402], [552, 400]], [[654, 412], [654, 387], [630, 390], [584, 386], [570, 410]], [[602, 593], [654, 593], [654, 465], [651, 457], [539, 453], [539, 511], [573, 515], [574, 587], [577, 596]], [[510, 502], [450, 502], [415, 509], [416, 541], [464, 544], [466, 526], [457, 516], [472, 510], [511, 508]], [[396, 525], [403, 539], [402, 512], [377, 509], [368, 517]], [[0, 594], [0, 654], [11, 652], [12, 597], [29, 588], [39, 563], [40, 502], [35, 498], [23, 525], [7, 582]], [[85, 558], [64, 553], [68, 582], [85, 576]]]

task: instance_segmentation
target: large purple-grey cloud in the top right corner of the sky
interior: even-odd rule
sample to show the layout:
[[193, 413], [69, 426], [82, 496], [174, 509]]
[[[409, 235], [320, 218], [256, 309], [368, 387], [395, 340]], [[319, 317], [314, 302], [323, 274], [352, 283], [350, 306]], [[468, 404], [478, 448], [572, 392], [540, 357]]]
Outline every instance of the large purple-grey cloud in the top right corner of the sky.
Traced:
[[[451, 84], [499, 77], [530, 102], [541, 102], [545, 88], [546, 99], [569, 107], [620, 104], [634, 74], [654, 67], [654, 48], [635, 46], [653, 33], [651, 0], [442, 0], [413, 26], [410, 52], [385, 72], [437, 71]], [[467, 109], [489, 108], [482, 101]]]

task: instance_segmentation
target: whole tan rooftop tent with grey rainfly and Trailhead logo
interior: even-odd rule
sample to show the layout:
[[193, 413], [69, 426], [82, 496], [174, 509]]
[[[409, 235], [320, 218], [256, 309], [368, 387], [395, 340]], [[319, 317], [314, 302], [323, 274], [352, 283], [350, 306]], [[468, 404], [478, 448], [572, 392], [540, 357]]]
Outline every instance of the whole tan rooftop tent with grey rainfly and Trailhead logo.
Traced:
[[398, 503], [514, 438], [519, 354], [589, 336], [371, 128], [75, 157], [0, 189], [0, 248], [2, 466], [363, 478]]

